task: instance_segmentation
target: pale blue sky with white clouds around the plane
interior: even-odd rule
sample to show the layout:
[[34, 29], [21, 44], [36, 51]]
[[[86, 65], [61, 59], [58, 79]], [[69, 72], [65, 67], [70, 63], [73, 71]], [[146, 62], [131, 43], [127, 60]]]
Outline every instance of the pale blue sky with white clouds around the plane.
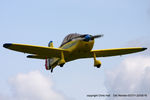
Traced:
[[[28, 59], [4, 43], [59, 47], [69, 33], [104, 34], [93, 49], [150, 47], [149, 0], [0, 0], [1, 100], [148, 100], [150, 52], [79, 59], [46, 71], [44, 60]], [[147, 97], [88, 97], [93, 94]]]

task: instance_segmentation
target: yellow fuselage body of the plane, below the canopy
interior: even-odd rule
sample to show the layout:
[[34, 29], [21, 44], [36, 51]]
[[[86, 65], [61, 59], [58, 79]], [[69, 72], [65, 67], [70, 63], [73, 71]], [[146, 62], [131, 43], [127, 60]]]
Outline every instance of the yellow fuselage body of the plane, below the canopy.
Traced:
[[[64, 54], [65, 61], [69, 62], [79, 58], [87, 58], [87, 54], [92, 50], [94, 45], [94, 40], [82, 41], [82, 40], [72, 40], [62, 47], [61, 49], [67, 49], [70, 53]], [[60, 58], [51, 58], [50, 66], [57, 66]]]

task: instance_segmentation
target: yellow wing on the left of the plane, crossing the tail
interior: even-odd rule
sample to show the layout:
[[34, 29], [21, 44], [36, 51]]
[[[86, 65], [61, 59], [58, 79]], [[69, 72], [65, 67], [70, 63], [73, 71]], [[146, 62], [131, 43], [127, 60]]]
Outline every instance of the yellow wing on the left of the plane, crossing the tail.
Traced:
[[[40, 57], [42, 57], [42, 58], [44, 58], [44, 57], [60, 58], [61, 57], [61, 51], [64, 52], [64, 55], [68, 54], [68, 52], [69, 52], [66, 49], [61, 49], [61, 48], [44, 47], [44, 46], [27, 45], [27, 44], [15, 44], [15, 43], [5, 43], [3, 45], [3, 47], [5, 47], [7, 49], [14, 50], [14, 51], [23, 52], [23, 53], [35, 54], [33, 56], [38, 56], [39, 58]], [[32, 57], [30, 56], [29, 58], [32, 58]]]

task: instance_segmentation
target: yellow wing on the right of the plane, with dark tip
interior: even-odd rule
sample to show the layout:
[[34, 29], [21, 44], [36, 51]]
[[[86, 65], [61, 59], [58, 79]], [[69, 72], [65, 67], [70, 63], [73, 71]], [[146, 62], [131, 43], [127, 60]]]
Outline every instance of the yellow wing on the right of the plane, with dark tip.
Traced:
[[140, 51], [144, 51], [146, 49], [147, 48], [132, 47], [132, 48], [114, 48], [114, 49], [92, 50], [90, 56], [93, 56], [92, 53], [95, 53], [96, 57], [118, 56], [118, 55], [125, 55], [125, 54], [140, 52]]

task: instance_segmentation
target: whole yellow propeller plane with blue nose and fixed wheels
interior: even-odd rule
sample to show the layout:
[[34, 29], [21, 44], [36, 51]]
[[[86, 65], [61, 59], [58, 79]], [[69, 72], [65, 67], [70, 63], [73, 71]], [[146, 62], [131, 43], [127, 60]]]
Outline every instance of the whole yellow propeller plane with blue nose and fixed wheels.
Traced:
[[90, 35], [72, 33], [64, 38], [59, 48], [53, 46], [53, 41], [48, 43], [48, 47], [16, 43], [5, 43], [3, 47], [31, 54], [28, 55], [27, 58], [45, 59], [45, 68], [51, 72], [53, 72], [53, 69], [57, 65], [63, 67], [66, 62], [81, 58], [94, 58], [94, 66], [100, 68], [101, 62], [97, 60], [96, 57], [121, 56], [147, 49], [144, 47], [130, 47], [92, 50], [94, 40], [100, 37], [103, 37], [103, 34]]

